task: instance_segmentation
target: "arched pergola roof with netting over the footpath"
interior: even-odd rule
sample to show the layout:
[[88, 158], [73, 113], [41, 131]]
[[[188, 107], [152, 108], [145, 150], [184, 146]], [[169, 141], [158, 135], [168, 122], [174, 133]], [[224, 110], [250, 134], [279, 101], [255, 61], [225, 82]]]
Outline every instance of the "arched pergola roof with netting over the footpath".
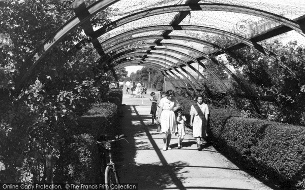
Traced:
[[[275, 4], [275, 2], [277, 4]], [[233, 51], [249, 46], [256, 51], [276, 59], [277, 55], [263, 47], [260, 42], [272, 41], [284, 34], [292, 40], [305, 40], [305, 3], [302, 1], [198, 1], [198, 0], [100, 0], [86, 6], [83, 0], [72, 4], [75, 16], [46, 39], [24, 64], [25, 72], [16, 81], [16, 91], [25, 85], [27, 77], [43, 57], [58, 44], [65, 35], [77, 26], [82, 26], [87, 35], [80, 43], [89, 43], [88, 51], [103, 57], [111, 53], [117, 63], [116, 69], [144, 65], [160, 70], [176, 88], [186, 88], [181, 78], [197, 92], [201, 84], [194, 74], [205, 77], [194, 65], [200, 65], [227, 88], [206, 62], [224, 69], [242, 88], [256, 111], [260, 110], [255, 96], [243, 84], [234, 70], [217, 60], [227, 54], [241, 64]], [[90, 19], [107, 8], [111, 23], [94, 28]], [[201, 36], [226, 36], [235, 44], [223, 46], [202, 40]], [[88, 41], [89, 39], [89, 41]], [[287, 65], [279, 65], [292, 76], [294, 71]], [[177, 80], [181, 82], [178, 83]]]

